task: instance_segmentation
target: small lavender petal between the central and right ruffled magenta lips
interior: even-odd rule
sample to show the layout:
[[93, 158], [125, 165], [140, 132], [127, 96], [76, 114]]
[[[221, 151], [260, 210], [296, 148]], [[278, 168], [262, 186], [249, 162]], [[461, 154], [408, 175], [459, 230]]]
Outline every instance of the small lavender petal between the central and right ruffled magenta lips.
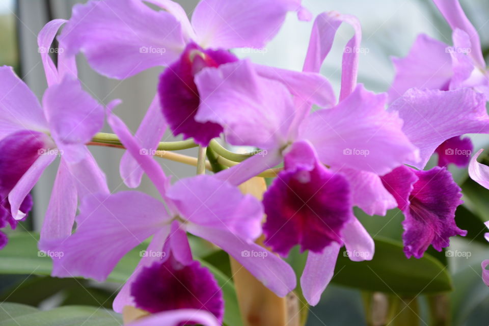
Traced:
[[375, 173], [349, 168], [339, 172], [350, 184], [353, 205], [360, 207], [365, 213], [384, 216], [387, 210], [397, 206], [396, 200]]

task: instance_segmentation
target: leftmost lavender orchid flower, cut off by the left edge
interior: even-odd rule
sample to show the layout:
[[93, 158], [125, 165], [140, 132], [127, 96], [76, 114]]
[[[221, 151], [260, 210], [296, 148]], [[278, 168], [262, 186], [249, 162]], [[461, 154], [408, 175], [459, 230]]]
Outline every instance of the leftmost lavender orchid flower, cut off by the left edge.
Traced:
[[[47, 23], [40, 48], [49, 48], [65, 20]], [[48, 88], [42, 106], [11, 67], [0, 67], [0, 227], [14, 228], [32, 208], [29, 194], [59, 155], [61, 163], [41, 231], [40, 248], [71, 234], [77, 200], [108, 192], [105, 176], [85, 146], [103, 125], [103, 107], [82, 90], [74, 58], [59, 53], [56, 68], [41, 51]], [[5, 246], [5, 236], [0, 247]]]

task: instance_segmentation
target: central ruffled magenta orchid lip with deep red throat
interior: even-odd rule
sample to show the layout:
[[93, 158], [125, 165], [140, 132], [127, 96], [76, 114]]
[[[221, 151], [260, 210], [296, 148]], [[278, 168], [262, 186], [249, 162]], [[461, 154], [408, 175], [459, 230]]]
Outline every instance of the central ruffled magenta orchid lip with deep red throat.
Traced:
[[332, 242], [342, 243], [341, 230], [352, 210], [345, 177], [318, 162], [305, 142], [292, 145], [285, 170], [263, 195], [263, 206], [265, 244], [282, 256], [296, 244], [301, 251], [320, 253]]

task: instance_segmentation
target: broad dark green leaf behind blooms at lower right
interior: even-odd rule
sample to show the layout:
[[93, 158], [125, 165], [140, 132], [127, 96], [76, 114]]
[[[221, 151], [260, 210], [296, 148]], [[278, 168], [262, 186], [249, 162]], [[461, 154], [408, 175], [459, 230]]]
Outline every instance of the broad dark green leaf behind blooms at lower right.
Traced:
[[424, 254], [421, 259], [404, 256], [402, 243], [375, 238], [371, 261], [353, 262], [340, 252], [333, 283], [366, 291], [418, 295], [450, 291], [448, 270], [437, 259]]

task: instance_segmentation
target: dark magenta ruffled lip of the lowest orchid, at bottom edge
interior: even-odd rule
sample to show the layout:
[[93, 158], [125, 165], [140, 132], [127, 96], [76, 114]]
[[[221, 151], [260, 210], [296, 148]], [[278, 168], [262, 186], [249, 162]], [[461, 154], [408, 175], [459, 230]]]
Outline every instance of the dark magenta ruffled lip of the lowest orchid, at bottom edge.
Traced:
[[198, 261], [181, 264], [173, 256], [143, 267], [131, 284], [135, 307], [152, 314], [198, 309], [222, 320], [223, 293], [209, 269]]

